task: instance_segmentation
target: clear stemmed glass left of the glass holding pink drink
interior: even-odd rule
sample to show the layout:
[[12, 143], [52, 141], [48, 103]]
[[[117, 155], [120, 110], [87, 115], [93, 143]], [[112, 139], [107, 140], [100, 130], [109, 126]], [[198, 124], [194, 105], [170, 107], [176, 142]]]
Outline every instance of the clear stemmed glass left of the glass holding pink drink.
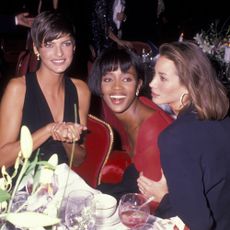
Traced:
[[72, 191], [67, 200], [65, 225], [70, 230], [95, 230], [93, 194], [86, 190]]

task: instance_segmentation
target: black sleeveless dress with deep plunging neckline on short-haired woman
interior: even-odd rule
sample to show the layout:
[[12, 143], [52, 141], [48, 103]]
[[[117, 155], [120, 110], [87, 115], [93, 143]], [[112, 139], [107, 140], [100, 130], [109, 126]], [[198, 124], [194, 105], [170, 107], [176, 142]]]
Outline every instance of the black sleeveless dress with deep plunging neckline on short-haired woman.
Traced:
[[[78, 113], [78, 95], [73, 82], [64, 77], [65, 84], [65, 105], [64, 120], [65, 122], [74, 122], [74, 104]], [[30, 132], [33, 133], [48, 123], [54, 122], [48, 103], [37, 81], [36, 73], [26, 74], [26, 94], [23, 106], [22, 125], [26, 125]], [[77, 114], [79, 123], [79, 114]], [[60, 141], [54, 141], [50, 137], [40, 147], [39, 160], [48, 160], [54, 153], [58, 155], [58, 163], [67, 163], [68, 158], [65, 149]], [[37, 150], [34, 151], [36, 153]], [[35, 154], [32, 154], [32, 158]]]

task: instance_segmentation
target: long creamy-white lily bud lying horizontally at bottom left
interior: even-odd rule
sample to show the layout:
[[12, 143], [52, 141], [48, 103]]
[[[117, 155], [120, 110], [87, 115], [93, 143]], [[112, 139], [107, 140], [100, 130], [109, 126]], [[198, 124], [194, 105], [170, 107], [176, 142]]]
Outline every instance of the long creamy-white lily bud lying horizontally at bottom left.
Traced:
[[9, 213], [6, 220], [20, 228], [46, 227], [60, 223], [60, 219], [56, 217], [36, 212]]

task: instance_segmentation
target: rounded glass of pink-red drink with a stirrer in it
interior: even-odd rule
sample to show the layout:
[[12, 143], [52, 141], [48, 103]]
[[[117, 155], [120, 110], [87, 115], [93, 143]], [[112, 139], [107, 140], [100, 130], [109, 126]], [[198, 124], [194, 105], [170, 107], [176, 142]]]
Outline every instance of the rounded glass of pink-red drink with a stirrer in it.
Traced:
[[138, 193], [128, 193], [121, 197], [118, 205], [118, 215], [121, 222], [129, 227], [142, 223], [146, 223], [150, 208], [149, 205], [143, 205], [146, 198], [142, 194]]

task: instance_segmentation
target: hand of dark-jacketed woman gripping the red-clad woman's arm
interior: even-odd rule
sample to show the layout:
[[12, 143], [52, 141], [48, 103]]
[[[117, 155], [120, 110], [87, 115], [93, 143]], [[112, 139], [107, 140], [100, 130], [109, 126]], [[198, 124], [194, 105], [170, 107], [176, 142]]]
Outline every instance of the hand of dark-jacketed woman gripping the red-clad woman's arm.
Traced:
[[162, 177], [159, 181], [151, 180], [140, 173], [137, 179], [137, 184], [140, 192], [147, 198], [154, 196], [154, 201], [160, 202], [165, 194], [168, 193], [167, 181], [162, 171]]

